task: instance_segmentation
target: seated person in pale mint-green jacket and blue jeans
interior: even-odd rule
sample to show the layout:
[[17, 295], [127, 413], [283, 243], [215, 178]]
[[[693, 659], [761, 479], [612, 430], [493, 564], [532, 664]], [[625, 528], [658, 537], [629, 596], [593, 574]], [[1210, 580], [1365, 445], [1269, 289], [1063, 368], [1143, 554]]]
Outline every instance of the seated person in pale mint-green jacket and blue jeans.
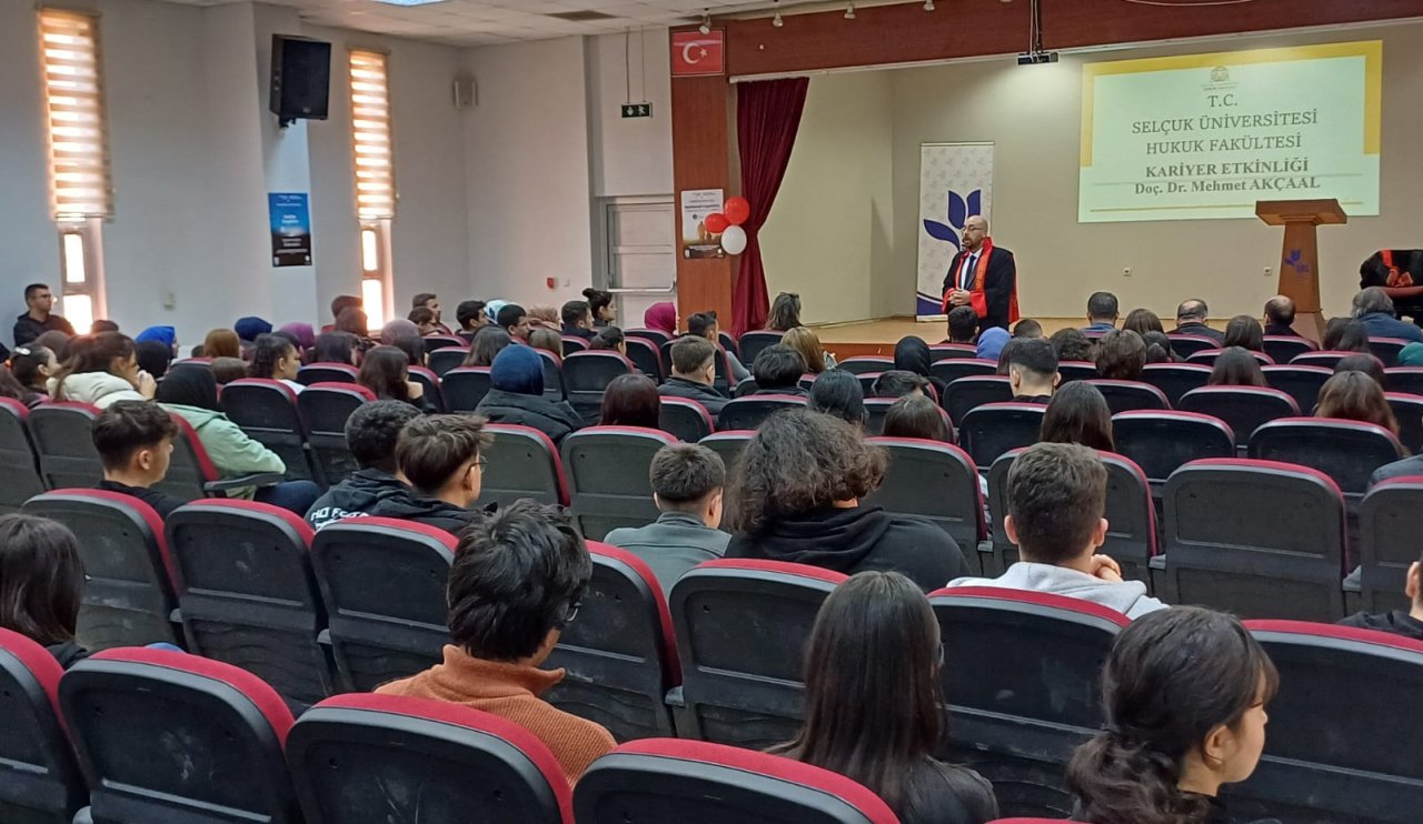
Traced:
[[[282, 459], [248, 438], [248, 433], [222, 413], [218, 405], [218, 381], [208, 369], [175, 369], [158, 385], [155, 401], [186, 421], [208, 452], [221, 477], [259, 473], [285, 473]], [[310, 480], [285, 480], [260, 489], [239, 487], [228, 497], [259, 500], [296, 514], [306, 514], [320, 490]]]

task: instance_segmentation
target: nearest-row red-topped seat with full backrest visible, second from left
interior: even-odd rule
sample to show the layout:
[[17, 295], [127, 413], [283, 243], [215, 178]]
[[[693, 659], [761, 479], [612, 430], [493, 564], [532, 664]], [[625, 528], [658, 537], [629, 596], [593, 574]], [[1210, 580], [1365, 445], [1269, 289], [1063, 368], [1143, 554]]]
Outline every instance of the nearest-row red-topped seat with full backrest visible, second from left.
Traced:
[[245, 669], [107, 649], [64, 675], [60, 706], [95, 821], [302, 820], [282, 757], [292, 712]]

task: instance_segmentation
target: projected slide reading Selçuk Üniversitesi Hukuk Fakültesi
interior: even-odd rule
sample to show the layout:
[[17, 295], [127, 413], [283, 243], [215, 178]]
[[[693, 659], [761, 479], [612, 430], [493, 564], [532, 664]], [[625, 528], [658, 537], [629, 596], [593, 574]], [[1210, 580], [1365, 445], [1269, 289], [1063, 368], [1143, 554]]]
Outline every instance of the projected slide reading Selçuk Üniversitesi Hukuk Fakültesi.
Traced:
[[1377, 215], [1382, 72], [1382, 41], [1087, 64], [1077, 220]]

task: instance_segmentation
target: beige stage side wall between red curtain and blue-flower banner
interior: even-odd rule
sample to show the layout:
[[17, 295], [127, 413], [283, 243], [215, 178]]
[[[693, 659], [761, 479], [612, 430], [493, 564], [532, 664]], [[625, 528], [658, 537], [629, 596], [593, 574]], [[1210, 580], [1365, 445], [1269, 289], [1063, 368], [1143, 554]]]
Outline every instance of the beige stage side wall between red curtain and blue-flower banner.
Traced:
[[[817, 77], [805, 95], [785, 179], [761, 229], [771, 297], [801, 296], [801, 320], [894, 314], [891, 278], [891, 72]], [[911, 290], [912, 297], [912, 290]]]

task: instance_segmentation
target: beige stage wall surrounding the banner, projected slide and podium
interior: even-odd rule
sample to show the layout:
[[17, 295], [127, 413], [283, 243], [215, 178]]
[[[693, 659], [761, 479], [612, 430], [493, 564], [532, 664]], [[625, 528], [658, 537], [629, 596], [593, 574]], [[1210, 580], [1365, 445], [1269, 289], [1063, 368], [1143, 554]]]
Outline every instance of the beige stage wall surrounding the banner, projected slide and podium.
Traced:
[[[1423, 192], [1423, 63], [1412, 51], [1423, 24], [1393, 24], [1332, 33], [1239, 37], [1158, 48], [1133, 48], [1090, 55], [1124, 60], [1211, 50], [1242, 50], [1346, 40], [1385, 41], [1382, 215], [1359, 217], [1343, 227], [1321, 229], [1325, 314], [1342, 314], [1358, 288], [1359, 263], [1379, 247], [1423, 247], [1419, 192]], [[1167, 315], [1185, 297], [1205, 298], [1212, 317], [1258, 314], [1275, 293], [1281, 230], [1258, 220], [1190, 220], [1160, 223], [1077, 223], [1077, 149], [1084, 55], [1062, 57], [1056, 65], [1017, 67], [1012, 58], [926, 68], [885, 70], [864, 75], [818, 75], [811, 80], [797, 156], [791, 159], [781, 196], [763, 236], [777, 249], [767, 264], [768, 288], [798, 287], [807, 297], [808, 321], [911, 314], [914, 311], [915, 242], [919, 196], [919, 143], [993, 141], [993, 239], [1017, 257], [1023, 313], [1040, 317], [1083, 314], [1086, 296], [1114, 291], [1123, 311], [1146, 305]], [[881, 78], [888, 87], [871, 85]], [[888, 102], [869, 90], [888, 88]], [[813, 111], [811, 102], [817, 104]], [[874, 236], [861, 210], [834, 212], [832, 202], [864, 202], [872, 190], [861, 175], [884, 168], [864, 153], [889, 116], [894, 202], [881, 219], [892, 219], [888, 257], [864, 263], [852, 251], [855, 239]], [[815, 114], [815, 119], [811, 115]], [[813, 129], [840, 129], [807, 139]], [[834, 143], [840, 134], [845, 142]], [[851, 142], [854, 139], [855, 142]], [[811, 172], [801, 163], [815, 155]], [[798, 163], [801, 163], [798, 166]], [[848, 168], [848, 183], [831, 170]], [[788, 215], [790, 205], [805, 212]], [[831, 223], [825, 223], [831, 220]], [[811, 253], [810, 249], [817, 249]], [[835, 254], [830, 254], [837, 250]], [[798, 257], [787, 257], [798, 251]], [[770, 253], [767, 253], [770, 261]], [[811, 266], [814, 259], [814, 266]], [[825, 260], [840, 266], [827, 266]], [[1123, 269], [1133, 274], [1126, 277]], [[794, 286], [793, 286], [794, 284]], [[867, 296], [868, 291], [868, 296]], [[818, 304], [828, 305], [821, 308]], [[854, 303], [854, 305], [851, 305]]]

